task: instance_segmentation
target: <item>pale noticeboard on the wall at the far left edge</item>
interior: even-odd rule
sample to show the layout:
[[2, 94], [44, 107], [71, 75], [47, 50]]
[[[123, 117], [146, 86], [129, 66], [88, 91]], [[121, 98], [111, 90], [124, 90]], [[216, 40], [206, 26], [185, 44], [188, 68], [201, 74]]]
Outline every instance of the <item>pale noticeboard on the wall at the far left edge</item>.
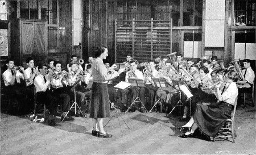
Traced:
[[8, 31], [0, 29], [0, 56], [8, 56]]

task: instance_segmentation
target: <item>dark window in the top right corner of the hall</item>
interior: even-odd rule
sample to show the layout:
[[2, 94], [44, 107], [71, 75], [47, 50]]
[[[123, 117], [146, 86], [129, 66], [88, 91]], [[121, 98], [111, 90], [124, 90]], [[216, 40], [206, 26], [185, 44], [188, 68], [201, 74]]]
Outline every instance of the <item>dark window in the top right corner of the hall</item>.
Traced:
[[234, 25], [255, 26], [256, 0], [234, 1]]

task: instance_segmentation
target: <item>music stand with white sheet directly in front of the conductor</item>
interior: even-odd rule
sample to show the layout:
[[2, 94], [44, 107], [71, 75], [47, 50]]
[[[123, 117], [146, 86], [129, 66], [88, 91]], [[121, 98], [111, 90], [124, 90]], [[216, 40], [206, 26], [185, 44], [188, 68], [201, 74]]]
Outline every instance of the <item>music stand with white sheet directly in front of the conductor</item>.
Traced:
[[[118, 89], [122, 89], [122, 90], [127, 89], [127, 87], [129, 87], [129, 86], [126, 85], [126, 83], [127, 83], [127, 82], [121, 81], [121, 82], [119, 82], [117, 85], [114, 86], [114, 87], [115, 87], [115, 93], [116, 93], [116, 94], [115, 94], [116, 104], [117, 104], [117, 91], [118, 91]], [[109, 101], [109, 102], [110, 102], [110, 101]], [[118, 122], [119, 122], [118, 110], [117, 110], [117, 108], [119, 108], [119, 107], [114, 104], [115, 113], [111, 116], [111, 118], [110, 118], [109, 121], [104, 125], [103, 128], [106, 127], [106, 125], [110, 122], [110, 120], [112, 120], [113, 117], [116, 117], [116, 118], [118, 119]], [[115, 115], [115, 114], [116, 114], [116, 115]], [[125, 119], [123, 119], [123, 117], [121, 116], [121, 114], [119, 114], [119, 116], [122, 118], [123, 122], [125, 122]], [[128, 129], [130, 129], [126, 122], [125, 122], [125, 125], [127, 126]], [[120, 122], [119, 122], [119, 127], [120, 127], [121, 132], [122, 132], [122, 128], [121, 128]], [[123, 133], [122, 133], [122, 134], [123, 134]]]

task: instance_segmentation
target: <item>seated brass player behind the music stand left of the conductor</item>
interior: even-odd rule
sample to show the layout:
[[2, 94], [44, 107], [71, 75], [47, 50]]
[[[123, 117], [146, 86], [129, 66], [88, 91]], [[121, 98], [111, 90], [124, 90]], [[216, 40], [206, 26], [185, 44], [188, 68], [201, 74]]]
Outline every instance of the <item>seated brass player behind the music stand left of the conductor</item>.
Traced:
[[[71, 97], [75, 97], [75, 87], [76, 87], [76, 102], [78, 103], [79, 107], [81, 107], [81, 103], [85, 101], [85, 94], [82, 93], [80, 91], [80, 87], [77, 87], [77, 83], [79, 83], [81, 81], [82, 78], [82, 70], [79, 69], [79, 63], [78, 62], [74, 62], [71, 61], [69, 63], [69, 66], [71, 66], [71, 72], [69, 72], [69, 76], [68, 76], [68, 84], [69, 86], [72, 86], [71, 88]], [[79, 110], [79, 109], [77, 109]], [[79, 112], [77, 112], [77, 114], [75, 115], [76, 117], [79, 116], [78, 115]]]

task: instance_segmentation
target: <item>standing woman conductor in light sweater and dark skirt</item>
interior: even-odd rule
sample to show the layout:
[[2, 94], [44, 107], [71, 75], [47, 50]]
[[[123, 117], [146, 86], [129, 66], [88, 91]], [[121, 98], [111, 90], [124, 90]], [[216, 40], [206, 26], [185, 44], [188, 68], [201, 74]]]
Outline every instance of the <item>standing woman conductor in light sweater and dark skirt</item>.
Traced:
[[[112, 137], [106, 133], [103, 128], [103, 118], [110, 117], [108, 80], [119, 76], [125, 71], [125, 68], [119, 69], [118, 72], [112, 69], [112, 74], [108, 74], [103, 60], [108, 56], [108, 48], [101, 45], [95, 53], [97, 57], [92, 64], [92, 103], [90, 118], [93, 122], [92, 135], [98, 137]], [[98, 124], [98, 128], [97, 128]]]

